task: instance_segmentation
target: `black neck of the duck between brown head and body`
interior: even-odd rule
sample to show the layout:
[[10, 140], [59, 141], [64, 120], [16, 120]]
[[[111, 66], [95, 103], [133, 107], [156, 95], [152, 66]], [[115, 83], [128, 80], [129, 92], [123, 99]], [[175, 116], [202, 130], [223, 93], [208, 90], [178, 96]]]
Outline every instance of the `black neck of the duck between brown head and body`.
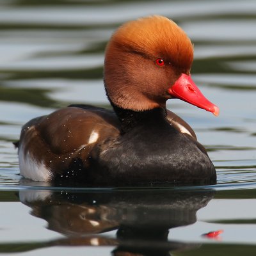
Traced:
[[[111, 102], [111, 100], [109, 100]], [[131, 131], [140, 125], [160, 125], [166, 122], [166, 108], [154, 108], [145, 111], [133, 111], [116, 106], [111, 102], [113, 109], [121, 124], [122, 133]]]

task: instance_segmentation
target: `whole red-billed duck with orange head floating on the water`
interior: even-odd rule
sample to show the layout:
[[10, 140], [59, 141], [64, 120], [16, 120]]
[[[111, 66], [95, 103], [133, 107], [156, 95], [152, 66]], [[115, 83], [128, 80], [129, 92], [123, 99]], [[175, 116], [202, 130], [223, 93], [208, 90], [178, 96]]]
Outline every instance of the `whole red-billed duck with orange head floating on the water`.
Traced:
[[53, 184], [153, 186], [216, 184], [216, 170], [193, 129], [166, 109], [180, 99], [218, 116], [191, 78], [193, 44], [172, 20], [124, 23], [105, 51], [112, 109], [72, 104], [33, 118], [20, 132], [20, 175]]

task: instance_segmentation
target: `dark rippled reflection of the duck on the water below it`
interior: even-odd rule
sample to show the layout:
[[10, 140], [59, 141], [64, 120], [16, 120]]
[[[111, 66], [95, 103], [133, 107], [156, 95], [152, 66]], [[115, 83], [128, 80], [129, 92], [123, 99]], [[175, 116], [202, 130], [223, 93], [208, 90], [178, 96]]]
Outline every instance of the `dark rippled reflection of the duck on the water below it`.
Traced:
[[[170, 255], [197, 246], [168, 241], [169, 230], [195, 223], [196, 211], [213, 196], [213, 191], [180, 189], [20, 191], [33, 216], [67, 236], [52, 245], [112, 245], [118, 256]], [[117, 230], [115, 238], [99, 235], [109, 230]]]

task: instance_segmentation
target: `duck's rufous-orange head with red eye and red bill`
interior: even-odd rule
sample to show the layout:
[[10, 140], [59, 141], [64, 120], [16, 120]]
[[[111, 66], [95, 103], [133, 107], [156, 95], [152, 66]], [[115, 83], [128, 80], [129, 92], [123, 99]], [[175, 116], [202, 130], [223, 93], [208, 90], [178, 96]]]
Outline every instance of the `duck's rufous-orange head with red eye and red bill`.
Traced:
[[191, 79], [193, 45], [172, 20], [151, 16], [127, 22], [106, 48], [104, 81], [116, 106], [134, 111], [165, 108], [177, 98], [218, 115]]

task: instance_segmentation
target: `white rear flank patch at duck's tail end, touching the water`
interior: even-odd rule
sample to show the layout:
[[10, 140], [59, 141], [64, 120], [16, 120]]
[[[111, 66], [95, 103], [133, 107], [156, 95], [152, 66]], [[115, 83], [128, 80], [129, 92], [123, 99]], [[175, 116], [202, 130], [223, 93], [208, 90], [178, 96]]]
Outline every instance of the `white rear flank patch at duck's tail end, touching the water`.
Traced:
[[35, 181], [49, 181], [52, 177], [52, 172], [46, 168], [43, 162], [38, 162], [35, 158], [29, 154], [25, 155], [23, 147], [19, 148], [19, 166], [20, 175], [27, 179]]

